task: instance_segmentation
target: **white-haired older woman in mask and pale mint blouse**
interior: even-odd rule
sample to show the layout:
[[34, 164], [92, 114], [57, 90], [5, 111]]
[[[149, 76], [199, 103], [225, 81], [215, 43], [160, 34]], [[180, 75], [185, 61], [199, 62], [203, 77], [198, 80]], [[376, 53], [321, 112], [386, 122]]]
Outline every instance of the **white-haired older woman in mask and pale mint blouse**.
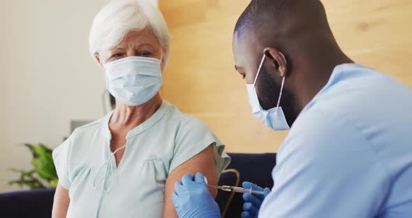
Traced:
[[169, 52], [163, 16], [154, 6], [114, 1], [96, 15], [89, 44], [116, 108], [54, 150], [53, 217], [177, 217], [175, 182], [200, 171], [214, 185], [230, 159], [203, 122], [161, 99]]

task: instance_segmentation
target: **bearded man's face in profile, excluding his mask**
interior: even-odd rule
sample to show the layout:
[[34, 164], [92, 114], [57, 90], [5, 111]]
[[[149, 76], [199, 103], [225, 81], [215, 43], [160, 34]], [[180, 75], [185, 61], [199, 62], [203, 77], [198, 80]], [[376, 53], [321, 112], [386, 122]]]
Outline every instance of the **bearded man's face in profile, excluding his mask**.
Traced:
[[[253, 84], [258, 73], [260, 61], [263, 58], [264, 50], [265, 47], [258, 41], [255, 34], [242, 34], [238, 32], [234, 34], [233, 54], [235, 57], [235, 68], [241, 77], [246, 80], [247, 84]], [[255, 84], [256, 94], [263, 109], [269, 110], [277, 106], [281, 80], [279, 71], [270, 64], [270, 59], [266, 57]], [[295, 101], [295, 95], [285, 85], [280, 106], [284, 110], [289, 126], [292, 126], [298, 115], [297, 110], [295, 110]]]

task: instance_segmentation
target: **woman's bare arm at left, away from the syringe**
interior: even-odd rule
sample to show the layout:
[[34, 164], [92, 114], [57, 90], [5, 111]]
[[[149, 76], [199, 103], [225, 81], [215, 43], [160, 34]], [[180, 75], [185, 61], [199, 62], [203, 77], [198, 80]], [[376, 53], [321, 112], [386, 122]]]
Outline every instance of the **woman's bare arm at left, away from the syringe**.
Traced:
[[56, 193], [54, 194], [52, 218], [66, 217], [69, 203], [68, 190], [62, 187], [60, 183], [57, 184]]

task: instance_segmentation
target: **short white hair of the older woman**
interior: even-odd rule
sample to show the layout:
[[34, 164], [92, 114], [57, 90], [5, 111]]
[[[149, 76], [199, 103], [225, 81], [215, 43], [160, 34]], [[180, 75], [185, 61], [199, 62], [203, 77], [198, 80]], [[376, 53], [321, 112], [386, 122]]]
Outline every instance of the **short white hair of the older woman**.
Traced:
[[89, 35], [91, 56], [97, 61], [96, 54], [115, 48], [130, 31], [147, 27], [152, 29], [162, 47], [165, 66], [170, 47], [168, 25], [156, 6], [138, 0], [112, 1], [94, 17]]

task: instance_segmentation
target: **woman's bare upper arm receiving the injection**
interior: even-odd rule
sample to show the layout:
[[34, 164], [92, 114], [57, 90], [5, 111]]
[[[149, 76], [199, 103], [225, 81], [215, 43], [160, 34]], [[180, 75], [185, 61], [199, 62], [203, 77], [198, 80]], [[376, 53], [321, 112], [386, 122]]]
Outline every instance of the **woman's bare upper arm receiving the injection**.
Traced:
[[[163, 218], [177, 218], [175, 205], [172, 201], [172, 194], [175, 192], [175, 183], [186, 174], [195, 175], [197, 172], [203, 173], [207, 178], [207, 184], [217, 185], [216, 163], [214, 161], [213, 145], [209, 145], [205, 150], [196, 154], [188, 161], [182, 163], [168, 175], [165, 183], [165, 205], [163, 208]], [[210, 194], [216, 198], [217, 190], [209, 188]]]

